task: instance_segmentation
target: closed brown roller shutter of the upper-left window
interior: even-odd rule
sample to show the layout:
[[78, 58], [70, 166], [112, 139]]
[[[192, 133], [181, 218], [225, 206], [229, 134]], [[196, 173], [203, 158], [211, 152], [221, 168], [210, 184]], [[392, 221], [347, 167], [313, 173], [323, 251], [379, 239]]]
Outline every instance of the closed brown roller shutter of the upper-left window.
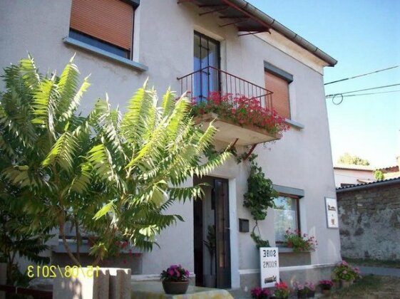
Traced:
[[130, 51], [133, 6], [120, 0], [72, 0], [71, 28]]

